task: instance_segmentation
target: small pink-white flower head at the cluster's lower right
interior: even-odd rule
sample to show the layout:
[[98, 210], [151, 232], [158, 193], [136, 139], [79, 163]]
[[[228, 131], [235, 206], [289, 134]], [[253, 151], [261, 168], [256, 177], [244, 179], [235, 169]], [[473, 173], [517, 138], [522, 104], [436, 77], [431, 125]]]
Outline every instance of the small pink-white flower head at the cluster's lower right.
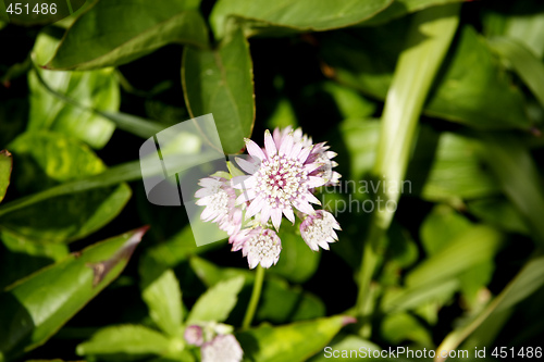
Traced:
[[316, 215], [306, 217], [300, 224], [300, 235], [313, 251], [318, 251], [319, 247], [329, 250], [329, 242], [338, 240], [335, 229], [341, 229], [338, 222], [324, 210], [318, 210]]

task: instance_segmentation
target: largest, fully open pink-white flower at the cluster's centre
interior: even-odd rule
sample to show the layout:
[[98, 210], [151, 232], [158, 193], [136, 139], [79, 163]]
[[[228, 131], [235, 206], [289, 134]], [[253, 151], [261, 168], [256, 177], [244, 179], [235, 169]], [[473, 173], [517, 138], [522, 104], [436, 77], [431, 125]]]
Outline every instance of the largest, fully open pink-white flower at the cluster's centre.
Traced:
[[293, 207], [304, 214], [313, 215], [316, 211], [309, 202], [321, 203], [311, 190], [326, 182], [321, 176], [311, 175], [322, 166], [308, 159], [312, 146], [305, 146], [301, 140], [295, 141], [293, 133], [279, 137], [281, 139], [273, 139], [267, 130], [264, 149], [246, 139], [248, 153], [260, 165], [256, 167], [255, 162], [239, 160], [240, 167], [252, 174], [233, 178], [234, 187], [243, 190], [236, 202], [250, 201], [246, 219], [259, 213], [261, 224], [271, 219], [276, 229], [280, 228], [282, 214], [292, 223], [295, 222]]

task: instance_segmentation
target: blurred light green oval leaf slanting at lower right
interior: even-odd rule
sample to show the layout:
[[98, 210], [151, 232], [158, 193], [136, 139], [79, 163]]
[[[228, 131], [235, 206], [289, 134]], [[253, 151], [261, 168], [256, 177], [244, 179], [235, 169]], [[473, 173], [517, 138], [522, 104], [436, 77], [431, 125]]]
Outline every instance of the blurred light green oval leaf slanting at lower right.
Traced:
[[448, 242], [434, 255], [418, 264], [408, 276], [409, 287], [445, 282], [493, 258], [502, 235], [487, 226], [474, 226]]

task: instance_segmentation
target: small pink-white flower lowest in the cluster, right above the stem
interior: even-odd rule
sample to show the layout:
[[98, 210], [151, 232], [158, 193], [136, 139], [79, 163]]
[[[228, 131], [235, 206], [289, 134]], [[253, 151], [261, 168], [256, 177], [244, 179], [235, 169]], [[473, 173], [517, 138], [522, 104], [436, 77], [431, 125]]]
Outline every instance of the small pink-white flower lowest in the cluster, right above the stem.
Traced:
[[270, 267], [280, 260], [282, 240], [270, 228], [262, 226], [245, 228], [231, 236], [228, 242], [233, 245], [233, 251], [242, 249], [242, 254], [247, 257], [249, 269], [256, 267], [259, 263], [262, 267]]

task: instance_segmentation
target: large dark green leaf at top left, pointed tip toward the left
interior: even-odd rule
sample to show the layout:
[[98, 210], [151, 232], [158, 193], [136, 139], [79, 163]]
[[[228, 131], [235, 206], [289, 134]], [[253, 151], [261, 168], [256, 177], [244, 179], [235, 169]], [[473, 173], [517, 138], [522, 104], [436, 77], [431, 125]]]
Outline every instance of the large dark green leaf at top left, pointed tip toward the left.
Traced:
[[67, 29], [46, 66], [91, 70], [128, 63], [172, 42], [206, 47], [199, 2], [97, 1]]

